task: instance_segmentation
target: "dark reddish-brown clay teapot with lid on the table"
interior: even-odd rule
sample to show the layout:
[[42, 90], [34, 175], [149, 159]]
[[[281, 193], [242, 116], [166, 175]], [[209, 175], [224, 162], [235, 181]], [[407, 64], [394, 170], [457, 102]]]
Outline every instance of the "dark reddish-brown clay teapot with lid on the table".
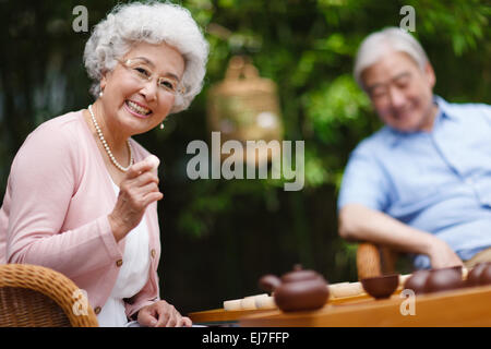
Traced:
[[300, 265], [278, 278], [265, 275], [259, 280], [261, 289], [273, 292], [276, 305], [284, 312], [315, 310], [325, 305], [330, 291], [324, 277]]

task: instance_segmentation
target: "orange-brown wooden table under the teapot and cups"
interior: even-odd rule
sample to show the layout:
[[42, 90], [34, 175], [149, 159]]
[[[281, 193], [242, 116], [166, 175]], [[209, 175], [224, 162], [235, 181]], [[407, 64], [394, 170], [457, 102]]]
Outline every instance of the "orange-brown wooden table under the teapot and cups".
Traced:
[[491, 326], [491, 286], [417, 296], [415, 315], [406, 297], [399, 292], [390, 299], [374, 300], [363, 293], [333, 299], [318, 310], [284, 313], [279, 310], [233, 311], [212, 310], [189, 314], [196, 323], [236, 322], [242, 327], [452, 327]]

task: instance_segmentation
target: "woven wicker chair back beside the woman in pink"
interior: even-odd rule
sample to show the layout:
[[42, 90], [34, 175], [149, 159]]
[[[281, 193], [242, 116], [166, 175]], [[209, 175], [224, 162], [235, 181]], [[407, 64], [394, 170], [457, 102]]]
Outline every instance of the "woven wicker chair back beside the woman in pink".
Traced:
[[50, 268], [0, 265], [0, 326], [97, 327], [88, 302], [79, 306], [79, 294], [72, 280]]

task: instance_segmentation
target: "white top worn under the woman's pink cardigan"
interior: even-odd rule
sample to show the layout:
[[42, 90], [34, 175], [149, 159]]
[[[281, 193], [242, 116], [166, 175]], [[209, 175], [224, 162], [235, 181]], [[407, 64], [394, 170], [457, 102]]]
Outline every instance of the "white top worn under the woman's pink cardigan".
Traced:
[[[112, 182], [116, 196], [118, 185]], [[123, 264], [106, 304], [97, 315], [100, 327], [122, 327], [128, 324], [123, 298], [136, 294], [148, 280], [149, 245], [148, 227], [145, 216], [142, 221], [125, 236]]]

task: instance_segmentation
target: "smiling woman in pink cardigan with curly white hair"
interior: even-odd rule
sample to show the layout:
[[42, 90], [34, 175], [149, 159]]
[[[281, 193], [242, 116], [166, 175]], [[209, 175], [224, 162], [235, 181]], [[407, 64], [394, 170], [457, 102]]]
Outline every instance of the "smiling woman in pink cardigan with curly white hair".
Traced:
[[179, 5], [120, 5], [94, 28], [84, 61], [96, 100], [41, 124], [16, 154], [0, 263], [64, 274], [87, 292], [101, 326], [191, 325], [159, 299], [158, 159], [131, 136], [190, 105], [207, 53]]

